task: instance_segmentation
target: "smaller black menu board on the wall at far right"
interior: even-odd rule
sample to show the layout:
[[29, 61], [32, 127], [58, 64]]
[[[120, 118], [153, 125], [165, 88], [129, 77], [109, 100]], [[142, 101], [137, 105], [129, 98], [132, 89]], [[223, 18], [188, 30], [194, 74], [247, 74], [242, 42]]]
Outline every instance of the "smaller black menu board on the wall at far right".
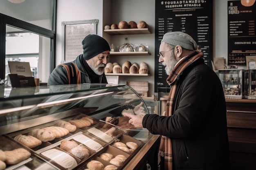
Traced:
[[228, 64], [246, 66], [246, 56], [256, 55], [256, 3], [245, 7], [228, 1]]

